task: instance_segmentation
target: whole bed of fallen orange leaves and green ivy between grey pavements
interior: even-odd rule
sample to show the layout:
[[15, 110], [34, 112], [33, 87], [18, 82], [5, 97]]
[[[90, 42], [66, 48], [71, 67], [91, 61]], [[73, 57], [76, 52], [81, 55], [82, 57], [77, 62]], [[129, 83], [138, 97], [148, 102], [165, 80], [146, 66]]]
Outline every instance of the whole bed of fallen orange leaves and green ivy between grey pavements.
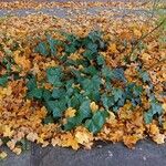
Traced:
[[165, 18], [131, 20], [1, 18], [0, 145], [164, 143]]

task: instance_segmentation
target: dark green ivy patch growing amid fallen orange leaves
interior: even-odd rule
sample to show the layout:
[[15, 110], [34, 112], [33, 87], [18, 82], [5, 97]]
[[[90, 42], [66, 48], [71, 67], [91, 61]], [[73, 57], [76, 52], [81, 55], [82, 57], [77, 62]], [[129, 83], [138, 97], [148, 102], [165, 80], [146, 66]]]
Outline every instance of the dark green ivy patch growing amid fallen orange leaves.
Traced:
[[[125, 77], [124, 68], [112, 69], [106, 65], [103, 55], [100, 53], [107, 49], [106, 41], [102, 33], [92, 31], [85, 38], [64, 33], [66, 40], [58, 41], [48, 38], [40, 42], [35, 51], [43, 56], [56, 56], [56, 45], [61, 45], [64, 51], [63, 58], [58, 58], [63, 62], [61, 66], [46, 69], [45, 82], [53, 86], [46, 90], [37, 82], [34, 75], [29, 75], [27, 97], [40, 101], [48, 110], [48, 116], [43, 123], [61, 121], [68, 107], [76, 110], [74, 117], [69, 117], [62, 128], [70, 131], [77, 125], [84, 125], [90, 132], [96, 134], [103, 127], [108, 112], [118, 112], [126, 102], [133, 106], [142, 105], [141, 97], [145, 92], [142, 85], [128, 82]], [[80, 60], [71, 60], [69, 56], [76, 50], [83, 48]], [[79, 68], [82, 65], [82, 68]], [[139, 79], [143, 83], [151, 84], [147, 72], [138, 69]], [[0, 83], [6, 82], [1, 79]], [[116, 85], [116, 82], [120, 85]], [[96, 102], [100, 107], [92, 112], [90, 104]], [[154, 116], [162, 114], [162, 107], [157, 100], [151, 102], [151, 108], [145, 113], [145, 123], [151, 123]]]

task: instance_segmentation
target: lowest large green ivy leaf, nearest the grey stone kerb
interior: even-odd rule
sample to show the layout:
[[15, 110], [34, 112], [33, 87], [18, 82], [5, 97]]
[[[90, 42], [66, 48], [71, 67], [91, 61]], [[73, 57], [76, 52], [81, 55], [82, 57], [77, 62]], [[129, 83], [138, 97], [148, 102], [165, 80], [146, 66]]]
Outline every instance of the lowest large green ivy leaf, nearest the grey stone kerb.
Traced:
[[85, 127], [93, 134], [98, 133], [105, 124], [108, 113], [106, 111], [97, 111], [91, 120], [85, 122]]

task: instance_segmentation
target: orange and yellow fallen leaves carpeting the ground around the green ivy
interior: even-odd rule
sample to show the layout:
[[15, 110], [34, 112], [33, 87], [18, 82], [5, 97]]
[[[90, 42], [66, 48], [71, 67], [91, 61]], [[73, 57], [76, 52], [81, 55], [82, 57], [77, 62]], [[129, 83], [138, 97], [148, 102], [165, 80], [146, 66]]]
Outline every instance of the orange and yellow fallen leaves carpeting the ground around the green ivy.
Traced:
[[[66, 118], [74, 117], [76, 110], [69, 107], [64, 112], [62, 121], [56, 124], [51, 123], [49, 125], [43, 124], [43, 118], [46, 116], [46, 108], [42, 106], [40, 102], [34, 100], [25, 101], [27, 95], [27, 79], [24, 76], [32, 73], [37, 76], [38, 81], [45, 79], [45, 70], [50, 66], [58, 66], [60, 63], [56, 58], [42, 56], [34, 53], [33, 49], [38, 44], [37, 38], [40, 37], [41, 41], [45, 40], [45, 32], [50, 32], [53, 39], [64, 40], [64, 37], [56, 30], [63, 30], [73, 34], [79, 34], [83, 38], [89, 34], [90, 31], [100, 29], [104, 32], [104, 39], [107, 41], [108, 48], [102, 50], [100, 53], [105, 58], [106, 64], [111, 68], [124, 66], [125, 77], [127, 82], [134, 82], [138, 85], [143, 85], [145, 90], [148, 89], [147, 83], [142, 84], [138, 77], [137, 66], [138, 64], [133, 61], [131, 64], [126, 64], [125, 56], [131, 53], [134, 40], [137, 40], [142, 34], [149, 32], [155, 24], [145, 22], [143, 18], [136, 18], [135, 15], [125, 17], [122, 20], [115, 21], [115, 13], [110, 11], [102, 11], [98, 15], [92, 17], [91, 14], [81, 14], [80, 10], [90, 7], [127, 7], [128, 9], [139, 8], [134, 3], [33, 3], [19, 1], [15, 3], [2, 3], [0, 8], [4, 9], [25, 9], [30, 7], [32, 9], [40, 8], [53, 8], [64, 7], [68, 9], [77, 10], [77, 15], [72, 19], [60, 19], [58, 17], [51, 17], [46, 14], [33, 14], [27, 17], [10, 17], [8, 19], [0, 20], [0, 43], [2, 51], [0, 51], [0, 62], [3, 58], [11, 56], [14, 63], [11, 65], [11, 72], [18, 73], [23, 79], [15, 81], [14, 76], [9, 77], [7, 87], [0, 87], [0, 136], [10, 137], [7, 143], [10, 149], [20, 154], [20, 147], [15, 147], [15, 143], [27, 137], [31, 142], [48, 146], [50, 143], [55, 146], [72, 147], [77, 149], [81, 145], [86, 148], [91, 148], [94, 139], [121, 142], [124, 141], [125, 145], [133, 147], [138, 139], [144, 136], [151, 136], [156, 143], [164, 143], [165, 136], [160, 134], [163, 129], [166, 129], [165, 114], [163, 116], [163, 128], [158, 127], [156, 121], [153, 121], [151, 125], [144, 124], [144, 112], [149, 108], [149, 101], [146, 95], [142, 96], [142, 107], [133, 107], [128, 102], [118, 110], [117, 114], [110, 111], [110, 117], [107, 117], [103, 129], [93, 135], [83, 126], [77, 126], [71, 132], [64, 132], [61, 129], [61, 125], [66, 123]], [[151, 6], [148, 6], [149, 9]], [[113, 17], [114, 19], [111, 19]], [[84, 19], [86, 18], [86, 19]], [[133, 18], [133, 19], [132, 19]], [[153, 20], [152, 20], [153, 21]], [[137, 23], [134, 23], [137, 22]], [[64, 25], [65, 24], [65, 25]], [[95, 27], [95, 25], [96, 27]], [[112, 24], [112, 27], [110, 25]], [[165, 58], [164, 44], [159, 44], [158, 37], [163, 34], [163, 31], [156, 31], [144, 40], [146, 49], [143, 49], [137, 53], [137, 58], [143, 61], [143, 64], [155, 64], [159, 60]], [[164, 35], [164, 34], [163, 34]], [[18, 43], [18, 49], [15, 49]], [[15, 48], [14, 48], [15, 46]], [[13, 49], [14, 48], [14, 49]], [[14, 51], [13, 51], [14, 50]], [[146, 50], [146, 51], [145, 51]], [[62, 46], [56, 48], [58, 56], [64, 55], [64, 49]], [[70, 55], [71, 60], [80, 60], [82, 58], [85, 48], [81, 48], [75, 53]], [[83, 70], [83, 65], [79, 65], [79, 70]], [[20, 73], [21, 71], [21, 73]], [[0, 68], [0, 75], [7, 73], [6, 68]], [[163, 102], [164, 113], [166, 112], [165, 97], [159, 96], [165, 91], [165, 66], [159, 64], [151, 71], [148, 71], [152, 82], [154, 84], [154, 93], [157, 98]], [[105, 84], [105, 80], [102, 80]], [[122, 83], [114, 82], [115, 86], [125, 86]], [[39, 84], [41, 87], [42, 85]], [[79, 84], [73, 84], [73, 87], [81, 89]], [[46, 90], [53, 90], [50, 83], [45, 83], [42, 87]], [[92, 112], [96, 112], [102, 108], [101, 103], [91, 103]], [[165, 132], [165, 131], [164, 131]], [[1, 145], [0, 139], [0, 145]], [[6, 156], [6, 154], [2, 154]]]

